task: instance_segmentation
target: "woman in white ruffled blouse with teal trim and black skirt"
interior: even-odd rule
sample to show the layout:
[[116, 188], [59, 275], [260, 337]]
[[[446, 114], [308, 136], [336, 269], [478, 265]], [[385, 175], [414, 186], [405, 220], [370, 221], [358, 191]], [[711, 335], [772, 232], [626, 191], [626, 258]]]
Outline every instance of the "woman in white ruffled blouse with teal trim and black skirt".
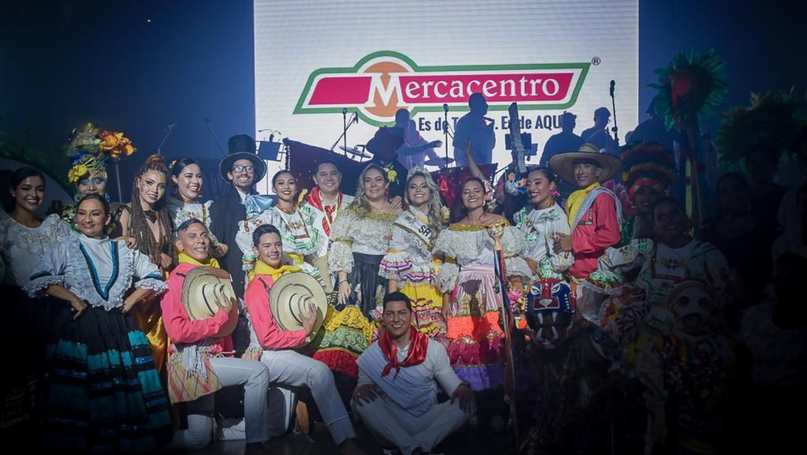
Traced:
[[128, 310], [165, 283], [148, 256], [107, 236], [101, 196], [83, 197], [76, 221], [82, 235], [49, 250], [25, 287], [63, 305], [50, 322], [43, 442], [56, 452], [152, 452], [170, 440], [172, 422], [148, 340]]

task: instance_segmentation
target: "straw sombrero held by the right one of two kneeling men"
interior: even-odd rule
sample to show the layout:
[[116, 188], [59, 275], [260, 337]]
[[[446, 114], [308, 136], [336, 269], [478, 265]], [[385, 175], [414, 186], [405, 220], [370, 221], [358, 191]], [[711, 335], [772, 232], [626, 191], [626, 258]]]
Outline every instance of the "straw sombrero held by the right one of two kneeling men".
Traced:
[[308, 314], [309, 303], [316, 309], [316, 322], [305, 343], [311, 342], [328, 313], [328, 297], [322, 284], [305, 272], [286, 273], [274, 282], [269, 292], [269, 308], [274, 322], [283, 331], [299, 331], [303, 328], [303, 314]]

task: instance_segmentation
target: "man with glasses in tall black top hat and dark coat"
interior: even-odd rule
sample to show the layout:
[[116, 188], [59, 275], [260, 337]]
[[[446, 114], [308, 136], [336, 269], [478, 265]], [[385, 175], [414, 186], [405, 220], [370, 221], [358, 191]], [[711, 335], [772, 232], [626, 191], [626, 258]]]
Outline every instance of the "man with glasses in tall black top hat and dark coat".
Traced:
[[[213, 200], [210, 208], [211, 231], [225, 245], [236, 244], [238, 221], [247, 217], [247, 205], [261, 201], [253, 185], [266, 175], [266, 163], [255, 154], [255, 140], [246, 134], [230, 137], [228, 155], [219, 162], [221, 178], [230, 183], [223, 195]], [[268, 202], [266, 203], [268, 207]], [[266, 209], [260, 208], [260, 209]], [[228, 243], [229, 242], [229, 243]], [[238, 248], [220, 259], [221, 267], [232, 276], [232, 289], [244, 296], [244, 278]]]

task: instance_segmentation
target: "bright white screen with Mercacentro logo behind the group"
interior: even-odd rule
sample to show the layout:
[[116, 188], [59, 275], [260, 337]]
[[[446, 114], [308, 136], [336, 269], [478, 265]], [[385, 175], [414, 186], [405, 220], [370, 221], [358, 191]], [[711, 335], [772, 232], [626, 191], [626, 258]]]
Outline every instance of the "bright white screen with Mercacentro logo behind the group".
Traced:
[[[637, 124], [637, 0], [255, 0], [254, 6], [255, 124], [281, 132], [275, 141], [289, 137], [329, 149], [347, 108], [348, 120], [358, 114], [348, 145], [365, 144], [379, 125], [394, 123], [399, 107], [412, 112], [421, 136], [442, 140], [443, 104], [453, 128], [468, 110], [468, 96], [482, 92], [487, 116], [496, 120], [494, 161], [504, 165], [510, 103], [518, 103], [522, 133], [532, 133], [540, 156], [560, 131], [563, 111], [578, 116], [579, 134], [592, 126], [596, 107], [611, 109], [612, 79], [620, 137]], [[270, 131], [256, 134], [266, 140]]]

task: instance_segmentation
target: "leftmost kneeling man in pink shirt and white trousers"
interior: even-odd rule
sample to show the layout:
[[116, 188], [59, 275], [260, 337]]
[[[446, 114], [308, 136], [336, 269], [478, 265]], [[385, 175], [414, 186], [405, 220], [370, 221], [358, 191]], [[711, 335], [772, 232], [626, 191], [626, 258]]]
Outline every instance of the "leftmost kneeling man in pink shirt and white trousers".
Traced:
[[[188, 272], [200, 266], [219, 268], [209, 256], [210, 238], [202, 221], [191, 218], [177, 230], [179, 265], [168, 279], [161, 307], [171, 345], [168, 363], [171, 402], [188, 402], [188, 428], [174, 433], [178, 449], [203, 449], [213, 435], [213, 393], [229, 385], [244, 386], [245, 453], [266, 453], [262, 442], [270, 438], [266, 394], [269, 370], [253, 360], [232, 357], [232, 331], [238, 318], [235, 298], [216, 300], [211, 318], [192, 320], [182, 305], [182, 284]], [[228, 328], [229, 327], [229, 330]]]

